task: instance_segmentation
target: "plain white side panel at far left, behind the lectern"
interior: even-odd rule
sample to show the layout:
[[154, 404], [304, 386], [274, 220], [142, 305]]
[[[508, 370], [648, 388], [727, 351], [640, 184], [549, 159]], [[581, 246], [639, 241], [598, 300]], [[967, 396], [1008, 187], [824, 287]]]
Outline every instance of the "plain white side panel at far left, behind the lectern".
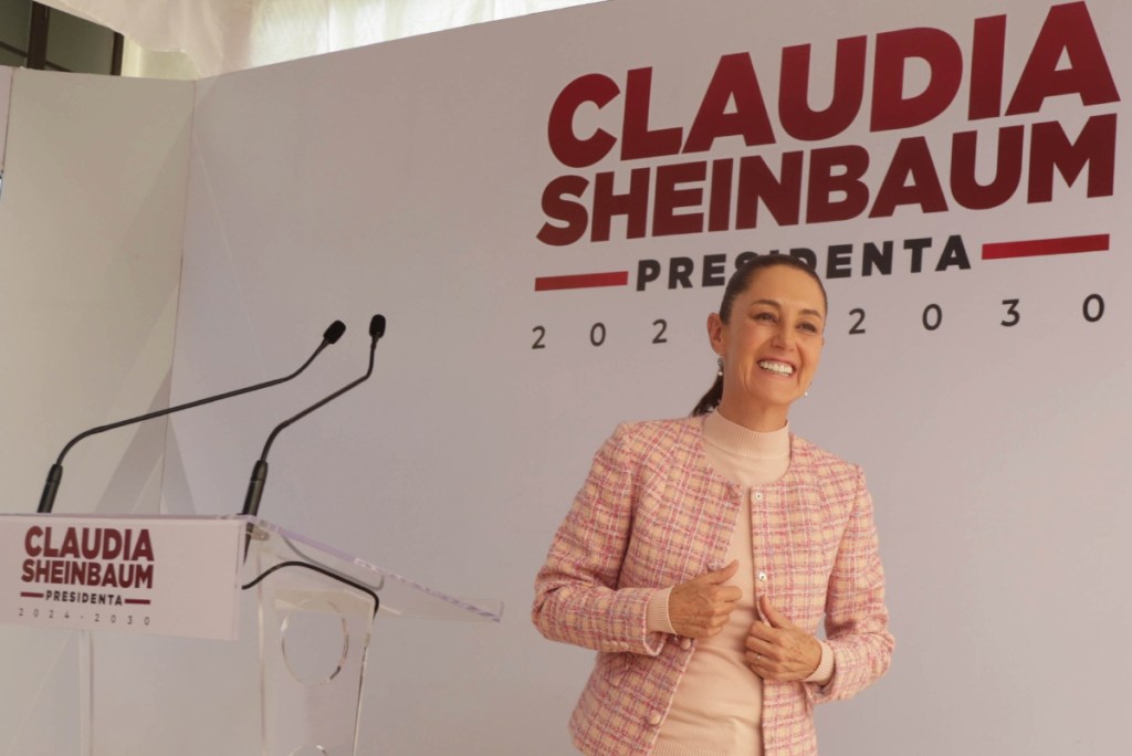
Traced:
[[[192, 85], [23, 69], [12, 85], [0, 480], [5, 510], [32, 513], [70, 437], [168, 401]], [[79, 444], [55, 510], [155, 512], [164, 438], [151, 423]], [[23, 691], [0, 706], [0, 751], [78, 753], [61, 715], [78, 696], [75, 636], [25, 637], [0, 628], [6, 690]]]

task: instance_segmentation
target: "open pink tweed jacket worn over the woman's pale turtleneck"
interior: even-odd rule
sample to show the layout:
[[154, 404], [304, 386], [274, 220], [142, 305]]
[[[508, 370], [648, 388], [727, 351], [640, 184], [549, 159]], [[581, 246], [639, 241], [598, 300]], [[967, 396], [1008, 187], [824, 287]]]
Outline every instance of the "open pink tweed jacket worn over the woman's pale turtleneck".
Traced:
[[[532, 617], [550, 639], [598, 651], [571, 718], [574, 745], [591, 756], [649, 754], [694, 641], [645, 632], [659, 589], [723, 566], [741, 487], [703, 452], [703, 419], [627, 423], [598, 450], [535, 579]], [[848, 698], [889, 668], [873, 504], [859, 467], [791, 436], [786, 475], [752, 502], [760, 595], [799, 627], [824, 616], [834, 656], [829, 685], [767, 680], [766, 756], [817, 753], [816, 703]]]

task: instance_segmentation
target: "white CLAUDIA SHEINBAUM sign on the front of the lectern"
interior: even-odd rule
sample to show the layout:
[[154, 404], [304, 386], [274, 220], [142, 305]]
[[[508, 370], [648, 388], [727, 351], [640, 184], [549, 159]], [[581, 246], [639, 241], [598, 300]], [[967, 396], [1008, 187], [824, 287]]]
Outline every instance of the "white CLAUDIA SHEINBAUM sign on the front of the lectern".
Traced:
[[0, 622], [234, 638], [245, 524], [0, 516]]

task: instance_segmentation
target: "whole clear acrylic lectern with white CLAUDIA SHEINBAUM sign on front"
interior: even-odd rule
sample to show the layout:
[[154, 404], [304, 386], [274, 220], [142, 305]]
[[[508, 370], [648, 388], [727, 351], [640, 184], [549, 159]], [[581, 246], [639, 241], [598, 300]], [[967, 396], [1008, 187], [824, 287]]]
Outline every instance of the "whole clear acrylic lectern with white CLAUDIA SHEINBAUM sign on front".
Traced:
[[6, 667], [31, 667], [0, 680], [0, 753], [359, 753], [379, 617], [501, 605], [256, 517], [0, 515], [0, 637], [27, 650]]

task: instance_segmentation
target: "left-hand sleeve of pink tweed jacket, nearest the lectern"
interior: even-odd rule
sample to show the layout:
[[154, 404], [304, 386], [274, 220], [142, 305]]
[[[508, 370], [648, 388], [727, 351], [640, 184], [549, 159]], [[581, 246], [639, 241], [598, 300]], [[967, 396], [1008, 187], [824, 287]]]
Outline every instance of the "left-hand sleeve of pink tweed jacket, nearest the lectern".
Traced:
[[551, 641], [657, 655], [666, 636], [646, 632], [645, 620], [658, 589], [618, 587], [640, 484], [629, 446], [621, 426], [594, 455], [535, 577], [531, 618]]

